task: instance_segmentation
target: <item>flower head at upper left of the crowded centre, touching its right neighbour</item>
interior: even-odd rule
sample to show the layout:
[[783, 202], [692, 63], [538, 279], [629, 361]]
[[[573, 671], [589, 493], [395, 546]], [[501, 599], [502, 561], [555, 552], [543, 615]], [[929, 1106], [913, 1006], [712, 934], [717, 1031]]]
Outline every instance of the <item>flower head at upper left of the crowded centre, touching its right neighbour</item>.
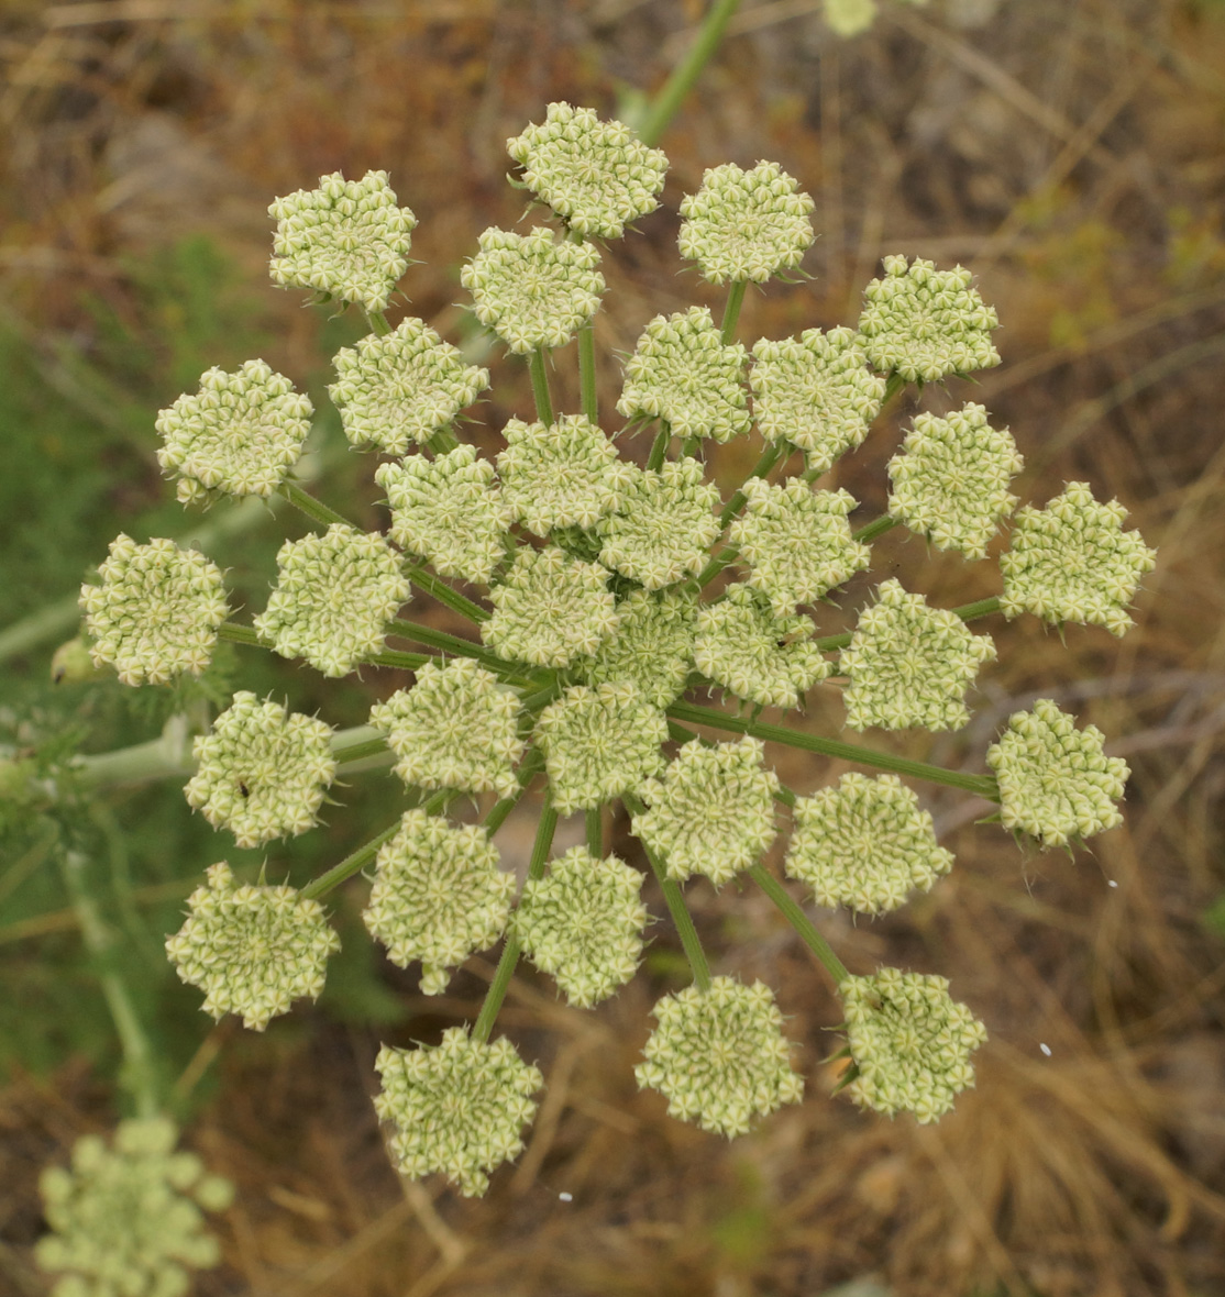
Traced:
[[514, 510], [493, 484], [494, 468], [475, 446], [436, 459], [411, 455], [379, 464], [374, 480], [392, 508], [392, 540], [433, 564], [440, 576], [481, 585], [506, 553]]

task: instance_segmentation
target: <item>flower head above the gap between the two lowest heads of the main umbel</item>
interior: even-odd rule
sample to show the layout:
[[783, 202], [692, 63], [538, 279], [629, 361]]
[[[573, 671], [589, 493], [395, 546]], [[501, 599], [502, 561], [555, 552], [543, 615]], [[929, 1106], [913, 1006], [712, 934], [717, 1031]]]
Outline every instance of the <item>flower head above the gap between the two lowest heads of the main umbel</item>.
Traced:
[[646, 926], [641, 890], [637, 869], [616, 856], [600, 860], [585, 847], [571, 847], [544, 878], [523, 885], [515, 933], [575, 1008], [607, 999], [637, 971]]

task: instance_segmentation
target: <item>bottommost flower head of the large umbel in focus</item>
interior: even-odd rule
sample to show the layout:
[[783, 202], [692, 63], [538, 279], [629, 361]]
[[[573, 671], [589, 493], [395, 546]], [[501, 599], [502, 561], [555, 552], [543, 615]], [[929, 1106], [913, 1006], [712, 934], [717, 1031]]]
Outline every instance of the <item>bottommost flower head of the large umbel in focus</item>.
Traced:
[[394, 1124], [400, 1174], [419, 1180], [441, 1171], [466, 1197], [484, 1193], [488, 1172], [523, 1150], [532, 1095], [545, 1083], [505, 1036], [491, 1045], [463, 1027], [448, 1027], [437, 1045], [384, 1045], [374, 1065], [383, 1078], [374, 1108]]

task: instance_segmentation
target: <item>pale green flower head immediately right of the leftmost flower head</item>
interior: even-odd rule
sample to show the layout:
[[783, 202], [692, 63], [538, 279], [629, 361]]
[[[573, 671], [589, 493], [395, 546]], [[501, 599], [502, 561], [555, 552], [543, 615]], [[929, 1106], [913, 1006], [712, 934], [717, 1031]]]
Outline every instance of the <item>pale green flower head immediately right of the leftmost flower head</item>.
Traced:
[[256, 630], [282, 658], [305, 658], [324, 676], [346, 676], [383, 645], [409, 580], [387, 541], [334, 523], [323, 536], [285, 541], [276, 586]]

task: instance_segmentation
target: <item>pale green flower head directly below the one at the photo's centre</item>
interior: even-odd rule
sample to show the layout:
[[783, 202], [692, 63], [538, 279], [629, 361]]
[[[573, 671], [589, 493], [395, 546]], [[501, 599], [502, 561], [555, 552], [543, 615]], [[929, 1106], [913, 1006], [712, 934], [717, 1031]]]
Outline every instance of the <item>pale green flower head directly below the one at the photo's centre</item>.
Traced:
[[572, 685], [540, 713], [533, 733], [559, 815], [637, 791], [662, 769], [667, 737], [663, 712], [627, 681]]

